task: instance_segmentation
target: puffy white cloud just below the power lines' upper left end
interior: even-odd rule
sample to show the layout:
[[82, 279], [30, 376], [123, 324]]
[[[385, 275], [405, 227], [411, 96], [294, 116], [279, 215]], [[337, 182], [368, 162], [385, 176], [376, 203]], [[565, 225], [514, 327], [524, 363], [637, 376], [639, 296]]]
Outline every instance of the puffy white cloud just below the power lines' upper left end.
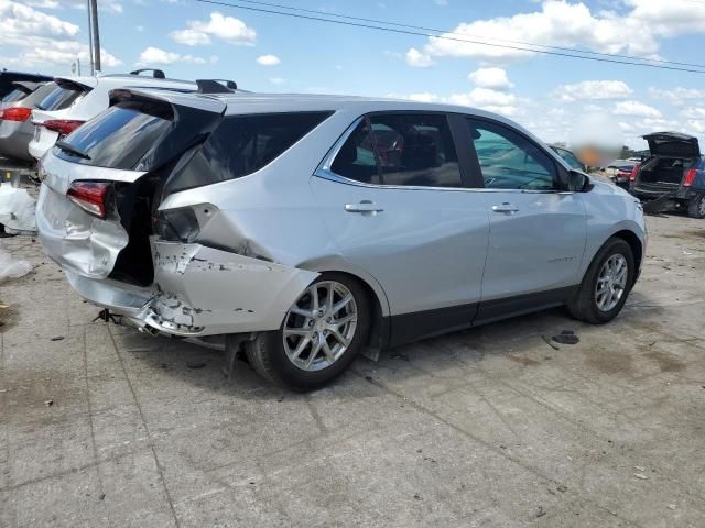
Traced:
[[185, 30], [172, 31], [169, 36], [188, 46], [210, 44], [212, 37], [232, 45], [251, 46], [257, 38], [257, 32], [245, 22], [234, 16], [224, 16], [216, 11], [210, 13], [210, 20], [207, 22], [189, 20], [186, 26]]

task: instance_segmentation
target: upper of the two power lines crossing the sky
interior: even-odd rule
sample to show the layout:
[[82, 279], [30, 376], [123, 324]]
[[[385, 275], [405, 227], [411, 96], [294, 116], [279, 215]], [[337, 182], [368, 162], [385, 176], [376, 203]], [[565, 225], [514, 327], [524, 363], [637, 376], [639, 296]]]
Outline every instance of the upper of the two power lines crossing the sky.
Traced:
[[[313, 9], [304, 9], [304, 8], [296, 8], [296, 7], [291, 7], [291, 6], [285, 6], [282, 3], [272, 3], [272, 2], [262, 2], [262, 1], [256, 1], [256, 0], [237, 0], [240, 3], [250, 3], [250, 4], [254, 4], [254, 6], [264, 6], [268, 8], [280, 8], [280, 9], [286, 9], [289, 11], [299, 11], [302, 13], [311, 13], [311, 14], [316, 14], [316, 15], [322, 15], [322, 16], [328, 16], [328, 18], [337, 18], [337, 19], [346, 19], [346, 20], [354, 20], [354, 21], [360, 21], [360, 22], [370, 22], [370, 23], [375, 23], [375, 24], [383, 24], [383, 25], [392, 25], [395, 28], [404, 28], [404, 29], [409, 29], [409, 30], [419, 30], [419, 31], [430, 31], [433, 33], [443, 33], [446, 35], [456, 35], [456, 36], [460, 36], [460, 37], [471, 37], [471, 38], [482, 38], [482, 36], [479, 35], [473, 35], [473, 34], [466, 34], [466, 33], [457, 33], [455, 31], [451, 31], [451, 30], [438, 30], [435, 28], [426, 28], [423, 25], [411, 25], [411, 24], [402, 24], [399, 22], [390, 22], [388, 20], [381, 20], [381, 19], [367, 19], [364, 16], [354, 16], [350, 14], [338, 14], [338, 13], [327, 13], [325, 11], [317, 11], [317, 10], [313, 10]], [[705, 1], [697, 1], [697, 0], [684, 0], [684, 1], [691, 1], [694, 3], [702, 3], [705, 4]], [[285, 14], [285, 13], [283, 13]], [[433, 37], [440, 37], [442, 35], [429, 35], [429, 36], [433, 36]], [[670, 65], [675, 65], [675, 66], [692, 66], [695, 68], [705, 68], [705, 64], [696, 64], [696, 63], [679, 63], [675, 61], [664, 61], [664, 59], [660, 59], [660, 58], [643, 58], [643, 57], [637, 57], [634, 55], [622, 55], [622, 54], [618, 54], [618, 53], [601, 53], [601, 52], [593, 52], [589, 50], [582, 50], [582, 48], [574, 48], [574, 47], [565, 47], [565, 46], [554, 46], [554, 45], [549, 45], [549, 44], [536, 44], [533, 42], [525, 42], [525, 41], [514, 41], [514, 40], [510, 40], [510, 38], [498, 38], [492, 36], [491, 37], [492, 41], [497, 41], [497, 42], [508, 42], [511, 44], [521, 44], [524, 46], [536, 46], [536, 47], [544, 47], [546, 50], [558, 50], [562, 52], [570, 52], [570, 53], [581, 53], [581, 54], [586, 54], [586, 55], [595, 55], [595, 56], [603, 56], [603, 57], [611, 57], [611, 58], [623, 58], [623, 59], [628, 59], [628, 61], [640, 61], [640, 62], [646, 62], [646, 63], [658, 63], [658, 64], [670, 64]], [[539, 53], [539, 51], [535, 51], [536, 53]]]

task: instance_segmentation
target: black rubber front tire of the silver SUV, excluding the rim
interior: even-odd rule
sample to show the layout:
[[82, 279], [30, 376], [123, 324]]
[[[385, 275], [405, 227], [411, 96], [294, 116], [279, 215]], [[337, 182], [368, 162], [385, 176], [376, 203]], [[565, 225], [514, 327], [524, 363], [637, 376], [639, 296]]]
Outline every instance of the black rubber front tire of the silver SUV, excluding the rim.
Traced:
[[[627, 270], [627, 286], [619, 302], [609, 311], [603, 311], [597, 306], [595, 298], [595, 289], [597, 287], [597, 278], [605, 262], [612, 255], [621, 254], [629, 266]], [[622, 239], [609, 239], [603, 248], [597, 252], [595, 258], [590, 263], [577, 293], [568, 300], [567, 308], [571, 315], [581, 321], [590, 324], [604, 324], [611, 321], [619, 314], [627, 302], [627, 297], [631, 292], [634, 282], [634, 256], [631, 246]]]

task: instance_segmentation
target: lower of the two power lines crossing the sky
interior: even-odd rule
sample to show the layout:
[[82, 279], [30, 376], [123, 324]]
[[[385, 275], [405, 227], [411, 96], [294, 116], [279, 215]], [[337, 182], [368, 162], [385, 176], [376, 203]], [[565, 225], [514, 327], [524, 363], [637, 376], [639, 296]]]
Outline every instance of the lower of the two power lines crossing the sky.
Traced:
[[[554, 55], [554, 56], [560, 56], [560, 57], [579, 58], [579, 59], [583, 59], [583, 61], [594, 61], [594, 62], [611, 63], [611, 64], [625, 64], [625, 65], [629, 65], [629, 66], [642, 66], [642, 67], [647, 67], [647, 68], [669, 69], [669, 70], [675, 70], [675, 72], [688, 72], [688, 73], [693, 73], [693, 74], [705, 74], [705, 70], [703, 70], [703, 69], [682, 68], [682, 67], [668, 66], [668, 65], [661, 65], [661, 64], [650, 64], [650, 63], [643, 63], [643, 62], [642, 63], [638, 63], [638, 62], [633, 62], [633, 61], [620, 61], [620, 59], [616, 59], [616, 58], [606, 58], [606, 57], [593, 57], [593, 56], [585, 56], [585, 55], [576, 55], [575, 53], [563, 53], [563, 52], [554, 52], [554, 51], [549, 51], [549, 50], [535, 50], [535, 48], [531, 48], [531, 47], [513, 46], [513, 45], [508, 45], [508, 44], [495, 44], [495, 43], [490, 43], [490, 42], [484, 42], [484, 41], [477, 41], [477, 40], [470, 40], [470, 38], [458, 38], [458, 37], [452, 37], [452, 36], [446, 36], [446, 35], [434, 35], [434, 34], [430, 34], [430, 33], [423, 33], [421, 31], [412, 31], [412, 30], [403, 30], [403, 29], [394, 29], [394, 28], [381, 28], [379, 25], [364, 24], [361, 22], [348, 22], [348, 21], [343, 21], [343, 20], [333, 20], [333, 19], [328, 19], [328, 18], [324, 18], [324, 16], [314, 16], [314, 15], [311, 15], [311, 14], [288, 13], [288, 12], [283, 12], [283, 11], [276, 11], [274, 9], [254, 8], [254, 7], [251, 7], [251, 6], [228, 3], [228, 2], [223, 2], [223, 1], [218, 1], [218, 0], [196, 0], [196, 1], [200, 2], [200, 3], [209, 3], [209, 4], [213, 4], [213, 6], [223, 6], [223, 7], [227, 7], [227, 8], [243, 9], [243, 10], [247, 10], [247, 11], [254, 11], [254, 12], [268, 13], [268, 14], [276, 14], [276, 15], [282, 15], [282, 16], [290, 16], [290, 18], [303, 19], [303, 20], [311, 20], [311, 21], [316, 21], [316, 22], [328, 22], [330, 24], [348, 25], [348, 26], [354, 26], [354, 28], [364, 28], [364, 29], [377, 30], [377, 31], [387, 31], [387, 32], [390, 32], [390, 33], [398, 33], [398, 34], [403, 34], [403, 35], [425, 36], [427, 38], [441, 38], [441, 40], [446, 40], [446, 41], [463, 42], [463, 43], [466, 43], [466, 44], [478, 44], [478, 45], [482, 45], [482, 46], [502, 47], [502, 48], [506, 48], [506, 50], [516, 50], [516, 51], [521, 51], [521, 52], [531, 52], [531, 53], [539, 53], [539, 54], [544, 54], [544, 55]], [[698, 67], [705, 68], [705, 66], [699, 66], [699, 65], [698, 65]]]

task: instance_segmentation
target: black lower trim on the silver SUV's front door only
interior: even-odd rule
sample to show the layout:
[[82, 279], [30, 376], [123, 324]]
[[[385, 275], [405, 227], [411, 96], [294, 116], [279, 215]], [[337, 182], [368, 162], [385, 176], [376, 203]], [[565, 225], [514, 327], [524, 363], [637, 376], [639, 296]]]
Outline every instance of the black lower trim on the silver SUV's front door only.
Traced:
[[532, 311], [545, 310], [555, 306], [564, 305], [573, 296], [578, 286], [550, 289], [535, 294], [519, 295], [516, 297], [505, 297], [480, 302], [477, 317], [473, 326], [487, 324], [489, 322], [509, 319], [514, 316], [531, 314]]

